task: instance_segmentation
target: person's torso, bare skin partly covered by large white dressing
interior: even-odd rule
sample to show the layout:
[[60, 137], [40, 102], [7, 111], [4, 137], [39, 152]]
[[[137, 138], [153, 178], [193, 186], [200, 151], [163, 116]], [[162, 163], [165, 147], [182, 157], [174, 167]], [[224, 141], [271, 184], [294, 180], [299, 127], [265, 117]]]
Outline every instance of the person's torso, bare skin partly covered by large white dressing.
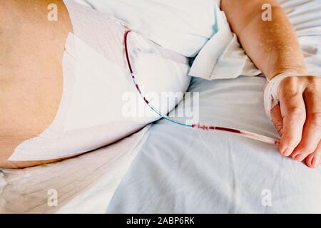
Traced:
[[[31, 18], [19, 12], [16, 19], [29, 23], [17, 26], [19, 21], [14, 21], [15, 39], [4, 39], [9, 51], [1, 56], [8, 61], [0, 71], [4, 88], [0, 105], [5, 107], [0, 110], [0, 125], [6, 126], [0, 130], [0, 167], [72, 157], [115, 142], [159, 118], [153, 113], [133, 120], [122, 113], [124, 93], [138, 96], [124, 58], [126, 27], [73, 0], [56, 2], [58, 21], [48, 21], [50, 3], [27, 6]], [[153, 43], [135, 34], [131, 37], [143, 46]], [[153, 58], [160, 58], [159, 53], [165, 53], [161, 62], [172, 72], [160, 79], [161, 84], [173, 80], [177, 91], [186, 89], [188, 59], [155, 43], [147, 51]], [[174, 92], [176, 88], [170, 87]], [[142, 100], [138, 103], [146, 105]]]

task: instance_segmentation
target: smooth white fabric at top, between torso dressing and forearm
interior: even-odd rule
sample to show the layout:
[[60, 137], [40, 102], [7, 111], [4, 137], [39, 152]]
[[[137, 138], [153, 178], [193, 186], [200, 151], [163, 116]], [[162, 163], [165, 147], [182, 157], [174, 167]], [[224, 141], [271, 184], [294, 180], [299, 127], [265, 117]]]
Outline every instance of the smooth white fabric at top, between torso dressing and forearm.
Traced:
[[[195, 56], [215, 34], [220, 0], [77, 0], [183, 56]], [[217, 19], [218, 18], [218, 19]]]

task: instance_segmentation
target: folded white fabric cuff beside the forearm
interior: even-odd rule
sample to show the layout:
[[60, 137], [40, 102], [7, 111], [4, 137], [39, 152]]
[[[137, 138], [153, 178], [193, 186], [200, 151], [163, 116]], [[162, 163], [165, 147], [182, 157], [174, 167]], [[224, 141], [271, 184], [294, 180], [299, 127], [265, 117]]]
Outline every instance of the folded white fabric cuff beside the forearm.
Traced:
[[213, 80], [260, 74], [238, 43], [238, 37], [231, 31], [223, 11], [218, 9], [216, 14], [220, 20], [215, 34], [196, 56], [189, 75]]

